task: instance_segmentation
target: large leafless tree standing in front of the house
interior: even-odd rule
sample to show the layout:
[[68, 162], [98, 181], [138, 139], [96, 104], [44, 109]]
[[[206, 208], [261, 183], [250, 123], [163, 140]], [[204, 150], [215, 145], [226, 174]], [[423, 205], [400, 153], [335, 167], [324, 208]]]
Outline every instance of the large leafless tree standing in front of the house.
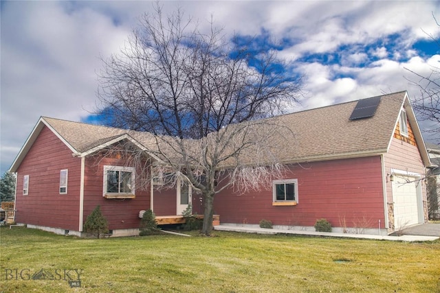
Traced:
[[[137, 130], [153, 174], [187, 180], [204, 198], [202, 233], [212, 231], [214, 195], [256, 189], [281, 174], [272, 155], [277, 119], [301, 95], [301, 78], [276, 52], [237, 45], [210, 23], [177, 10], [144, 14], [120, 54], [102, 60], [100, 113], [111, 126]], [[251, 154], [249, 156], [248, 154]], [[165, 176], [162, 176], [165, 177]]]

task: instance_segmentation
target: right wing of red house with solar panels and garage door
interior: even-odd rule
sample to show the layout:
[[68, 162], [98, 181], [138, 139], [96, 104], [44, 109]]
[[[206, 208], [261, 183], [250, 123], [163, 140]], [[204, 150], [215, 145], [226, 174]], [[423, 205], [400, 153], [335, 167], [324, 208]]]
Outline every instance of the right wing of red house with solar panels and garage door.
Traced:
[[[258, 193], [219, 194], [214, 212], [222, 224], [265, 219], [313, 229], [325, 218], [333, 231], [377, 234], [426, 222], [422, 179], [430, 159], [406, 92], [281, 119], [295, 126], [290, 136], [274, 141], [285, 150], [289, 174]], [[289, 188], [285, 200], [278, 198], [278, 190]]]

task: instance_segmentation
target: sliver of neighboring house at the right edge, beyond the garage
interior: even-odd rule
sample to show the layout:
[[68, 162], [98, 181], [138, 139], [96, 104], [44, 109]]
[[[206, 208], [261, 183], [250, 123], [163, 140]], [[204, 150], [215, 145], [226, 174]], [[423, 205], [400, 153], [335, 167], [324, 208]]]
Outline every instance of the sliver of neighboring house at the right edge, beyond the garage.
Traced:
[[440, 145], [426, 143], [432, 164], [428, 174], [428, 206], [432, 219], [440, 219]]

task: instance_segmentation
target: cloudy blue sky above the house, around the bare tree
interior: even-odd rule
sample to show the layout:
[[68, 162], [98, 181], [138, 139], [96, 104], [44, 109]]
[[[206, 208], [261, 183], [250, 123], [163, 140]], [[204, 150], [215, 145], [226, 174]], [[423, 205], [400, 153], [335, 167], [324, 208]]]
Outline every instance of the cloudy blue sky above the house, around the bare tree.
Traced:
[[[151, 1], [1, 1], [0, 173], [41, 116], [91, 121], [102, 58], [118, 54]], [[419, 90], [440, 67], [439, 1], [162, 1], [228, 36], [279, 40], [278, 57], [304, 75], [305, 110]], [[419, 122], [425, 141], [436, 137]]]

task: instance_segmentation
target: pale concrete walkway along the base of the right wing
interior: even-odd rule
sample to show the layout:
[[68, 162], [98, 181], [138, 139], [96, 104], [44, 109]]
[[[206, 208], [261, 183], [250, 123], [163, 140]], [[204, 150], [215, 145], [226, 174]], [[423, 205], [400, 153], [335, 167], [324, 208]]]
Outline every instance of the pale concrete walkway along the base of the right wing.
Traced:
[[314, 232], [314, 231], [254, 228], [254, 227], [232, 226], [232, 225], [221, 225], [221, 224], [218, 226], [214, 226], [214, 230], [257, 233], [257, 234], [295, 234], [295, 235], [345, 237], [345, 238], [356, 238], [356, 239], [376, 239], [376, 240], [391, 240], [391, 241], [405, 241], [405, 242], [434, 241], [439, 239], [439, 237], [437, 236], [424, 236], [424, 235], [389, 236], [389, 235], [369, 235], [369, 234], [349, 234], [349, 233], [326, 233], [326, 232]]

